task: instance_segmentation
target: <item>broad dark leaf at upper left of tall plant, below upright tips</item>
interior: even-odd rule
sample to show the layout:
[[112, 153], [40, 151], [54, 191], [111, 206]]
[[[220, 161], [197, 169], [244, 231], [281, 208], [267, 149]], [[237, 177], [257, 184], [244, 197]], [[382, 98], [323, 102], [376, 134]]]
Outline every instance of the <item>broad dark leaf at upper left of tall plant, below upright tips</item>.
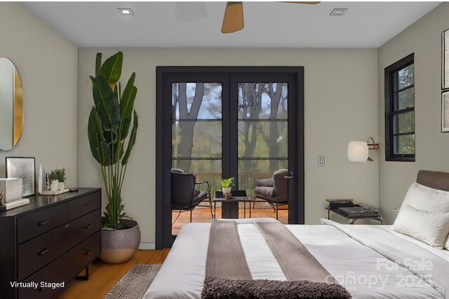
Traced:
[[91, 77], [93, 85], [93, 101], [98, 109], [101, 123], [105, 131], [120, 124], [120, 106], [114, 92], [102, 76]]

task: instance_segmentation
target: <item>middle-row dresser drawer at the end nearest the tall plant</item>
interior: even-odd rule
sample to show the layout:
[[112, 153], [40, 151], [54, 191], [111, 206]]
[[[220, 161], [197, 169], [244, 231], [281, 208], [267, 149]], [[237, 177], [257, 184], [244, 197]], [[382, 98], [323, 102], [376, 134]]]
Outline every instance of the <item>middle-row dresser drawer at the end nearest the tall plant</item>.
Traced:
[[101, 210], [96, 209], [91, 213], [76, 218], [69, 223], [68, 248], [72, 248], [79, 242], [91, 237], [101, 228]]

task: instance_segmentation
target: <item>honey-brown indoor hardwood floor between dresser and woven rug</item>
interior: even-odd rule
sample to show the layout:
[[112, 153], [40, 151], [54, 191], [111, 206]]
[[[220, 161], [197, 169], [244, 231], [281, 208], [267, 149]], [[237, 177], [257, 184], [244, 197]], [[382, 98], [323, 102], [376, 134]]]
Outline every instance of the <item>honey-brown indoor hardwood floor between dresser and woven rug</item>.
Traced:
[[[89, 267], [90, 277], [88, 281], [75, 279], [65, 287], [65, 291], [58, 298], [103, 298], [133, 265], [161, 264], [166, 259], [168, 251], [170, 249], [138, 250], [128, 262], [116, 265], [97, 260]], [[80, 274], [84, 275], [84, 272]]]

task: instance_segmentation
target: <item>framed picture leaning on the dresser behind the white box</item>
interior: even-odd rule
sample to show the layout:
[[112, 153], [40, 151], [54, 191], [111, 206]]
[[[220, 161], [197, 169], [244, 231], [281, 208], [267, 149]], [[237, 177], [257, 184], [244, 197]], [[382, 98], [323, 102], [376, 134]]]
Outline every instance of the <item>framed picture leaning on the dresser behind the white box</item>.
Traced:
[[36, 194], [36, 171], [34, 158], [6, 157], [6, 177], [22, 178], [22, 196]]

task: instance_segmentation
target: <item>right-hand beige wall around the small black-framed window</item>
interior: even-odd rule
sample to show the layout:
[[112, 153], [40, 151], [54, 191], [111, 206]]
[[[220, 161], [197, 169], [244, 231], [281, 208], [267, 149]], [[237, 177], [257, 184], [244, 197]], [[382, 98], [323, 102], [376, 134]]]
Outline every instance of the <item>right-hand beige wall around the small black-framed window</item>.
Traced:
[[[449, 172], [449, 134], [441, 132], [441, 32], [449, 28], [449, 4], [443, 3], [379, 49], [380, 208], [394, 222], [419, 169]], [[415, 53], [416, 162], [386, 162], [384, 68]]]

